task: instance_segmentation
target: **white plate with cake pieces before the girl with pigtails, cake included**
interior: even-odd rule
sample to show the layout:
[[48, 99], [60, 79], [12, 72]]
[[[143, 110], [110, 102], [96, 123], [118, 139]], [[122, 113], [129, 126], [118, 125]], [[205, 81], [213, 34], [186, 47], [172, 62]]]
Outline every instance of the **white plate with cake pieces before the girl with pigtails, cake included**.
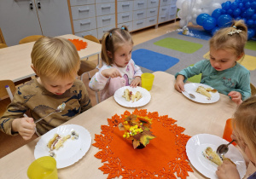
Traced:
[[113, 98], [123, 107], [143, 107], [151, 100], [151, 95], [142, 87], [124, 86], [115, 91]]

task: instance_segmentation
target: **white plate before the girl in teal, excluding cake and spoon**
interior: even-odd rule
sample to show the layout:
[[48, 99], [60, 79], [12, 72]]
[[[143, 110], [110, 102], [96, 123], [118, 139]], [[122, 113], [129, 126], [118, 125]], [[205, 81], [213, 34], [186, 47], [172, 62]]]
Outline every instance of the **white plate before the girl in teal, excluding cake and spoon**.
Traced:
[[192, 100], [192, 101], [196, 101], [196, 102], [200, 102], [200, 103], [213, 103], [213, 102], [217, 102], [219, 100], [219, 94], [218, 94], [218, 91], [215, 92], [215, 93], [212, 93], [212, 92], [209, 92], [212, 97], [210, 100], [207, 99], [207, 96], [206, 95], [201, 95], [197, 92], [195, 92], [195, 90], [199, 87], [199, 86], [202, 86], [204, 88], [211, 88], [213, 89], [211, 86], [208, 86], [207, 84], [196, 84], [196, 83], [189, 83], [189, 84], [185, 84], [184, 85], [184, 88], [185, 90], [188, 92], [188, 93], [191, 93], [193, 95], [195, 95], [195, 99], [191, 99], [189, 97], [189, 94], [186, 93], [185, 91], [183, 91], [183, 95], [185, 95], [187, 98], [189, 98], [189, 100]]

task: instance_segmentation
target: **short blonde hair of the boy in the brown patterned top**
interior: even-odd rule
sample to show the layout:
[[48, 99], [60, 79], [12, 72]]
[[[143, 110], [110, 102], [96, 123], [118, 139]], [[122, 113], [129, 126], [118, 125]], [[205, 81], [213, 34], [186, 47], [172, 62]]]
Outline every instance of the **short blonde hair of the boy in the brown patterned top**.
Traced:
[[39, 38], [31, 58], [38, 76], [75, 78], [80, 67], [77, 49], [65, 38]]

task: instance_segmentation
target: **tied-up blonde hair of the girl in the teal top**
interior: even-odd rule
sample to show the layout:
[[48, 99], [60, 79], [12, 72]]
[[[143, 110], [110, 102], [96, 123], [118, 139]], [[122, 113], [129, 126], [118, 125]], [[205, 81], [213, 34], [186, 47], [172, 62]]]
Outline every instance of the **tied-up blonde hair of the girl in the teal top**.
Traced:
[[[229, 34], [229, 32], [241, 30]], [[218, 30], [210, 39], [210, 49], [231, 49], [236, 56], [244, 55], [244, 46], [247, 43], [247, 26], [243, 20], [234, 21], [230, 27]]]

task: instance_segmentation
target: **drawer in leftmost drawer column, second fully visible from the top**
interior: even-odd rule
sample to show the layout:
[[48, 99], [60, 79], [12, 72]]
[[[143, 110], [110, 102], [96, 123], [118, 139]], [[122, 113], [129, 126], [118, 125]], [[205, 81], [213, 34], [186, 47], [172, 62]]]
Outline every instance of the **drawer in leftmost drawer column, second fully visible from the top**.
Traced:
[[74, 32], [89, 31], [96, 29], [96, 18], [88, 18], [84, 20], [73, 20]]

